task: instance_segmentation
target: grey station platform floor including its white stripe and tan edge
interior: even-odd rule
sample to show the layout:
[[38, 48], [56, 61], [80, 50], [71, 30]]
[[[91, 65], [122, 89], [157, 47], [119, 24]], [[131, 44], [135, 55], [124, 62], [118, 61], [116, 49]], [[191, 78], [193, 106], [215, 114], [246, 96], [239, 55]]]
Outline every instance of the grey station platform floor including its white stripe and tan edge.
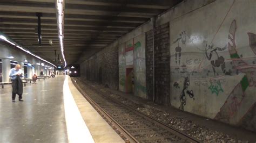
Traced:
[[69, 76], [28, 83], [23, 102], [11, 90], [0, 89], [0, 142], [124, 142]]

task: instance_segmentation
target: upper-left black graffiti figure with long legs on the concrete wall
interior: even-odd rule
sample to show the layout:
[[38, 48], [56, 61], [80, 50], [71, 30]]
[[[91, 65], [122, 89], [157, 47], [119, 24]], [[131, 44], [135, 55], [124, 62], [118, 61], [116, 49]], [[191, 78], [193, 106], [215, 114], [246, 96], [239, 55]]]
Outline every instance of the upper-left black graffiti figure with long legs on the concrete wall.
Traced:
[[[178, 46], [175, 48], [175, 51], [176, 51], [176, 53], [175, 53], [175, 62], [176, 62], [176, 64], [179, 62], [179, 65], [180, 65], [180, 58], [181, 58], [181, 47], [179, 46], [179, 42], [182, 42], [183, 44], [186, 44], [186, 32], [185, 31], [183, 31], [183, 32], [181, 32], [180, 34], [179, 34], [179, 38], [177, 38], [174, 42], [173, 42], [173, 44], [175, 44], [176, 42], [178, 42]], [[178, 60], [177, 60], [177, 56], [179, 56], [178, 57]]]

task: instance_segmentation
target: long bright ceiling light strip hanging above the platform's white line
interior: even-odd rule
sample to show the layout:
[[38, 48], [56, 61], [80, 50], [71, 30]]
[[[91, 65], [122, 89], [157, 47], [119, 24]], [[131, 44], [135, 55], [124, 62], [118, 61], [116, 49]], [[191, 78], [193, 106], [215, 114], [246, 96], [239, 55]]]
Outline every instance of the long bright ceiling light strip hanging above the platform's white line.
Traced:
[[59, 35], [59, 45], [60, 51], [62, 52], [62, 57], [66, 67], [66, 59], [64, 55], [63, 38], [64, 38], [64, 0], [56, 0], [57, 9], [57, 25], [58, 25], [58, 35]]

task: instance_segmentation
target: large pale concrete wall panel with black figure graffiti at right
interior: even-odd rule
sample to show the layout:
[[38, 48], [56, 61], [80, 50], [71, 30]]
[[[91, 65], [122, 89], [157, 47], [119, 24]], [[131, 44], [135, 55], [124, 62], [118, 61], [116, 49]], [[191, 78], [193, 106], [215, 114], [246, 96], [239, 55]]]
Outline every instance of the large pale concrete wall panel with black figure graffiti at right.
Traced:
[[[252, 0], [245, 1], [256, 4]], [[252, 112], [256, 104], [256, 30], [255, 19], [250, 15], [253, 9], [246, 4], [238, 14], [239, 1], [223, 2], [226, 5], [214, 3], [218, 8], [230, 7], [227, 13], [217, 11], [211, 18], [205, 18], [210, 26], [190, 24], [202, 16], [201, 11], [170, 23], [171, 105], [248, 127], [245, 121], [248, 118], [244, 117], [256, 115]], [[202, 11], [208, 10], [203, 8]], [[222, 18], [212, 20], [217, 16]], [[186, 34], [184, 42], [181, 33]], [[186, 84], [181, 82], [184, 77], [188, 77]], [[192, 89], [195, 101], [188, 98], [190, 92], [186, 94], [184, 89]], [[250, 113], [254, 115], [249, 116]], [[253, 121], [255, 123], [255, 119], [250, 123]]]

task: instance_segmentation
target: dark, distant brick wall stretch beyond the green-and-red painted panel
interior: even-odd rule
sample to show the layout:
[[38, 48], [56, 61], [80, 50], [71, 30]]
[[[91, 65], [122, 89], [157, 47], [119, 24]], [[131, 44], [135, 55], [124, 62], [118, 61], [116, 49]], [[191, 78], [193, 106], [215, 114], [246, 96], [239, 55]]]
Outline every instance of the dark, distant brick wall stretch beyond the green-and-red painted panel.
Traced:
[[86, 79], [118, 90], [118, 47], [106, 47], [85, 61]]

